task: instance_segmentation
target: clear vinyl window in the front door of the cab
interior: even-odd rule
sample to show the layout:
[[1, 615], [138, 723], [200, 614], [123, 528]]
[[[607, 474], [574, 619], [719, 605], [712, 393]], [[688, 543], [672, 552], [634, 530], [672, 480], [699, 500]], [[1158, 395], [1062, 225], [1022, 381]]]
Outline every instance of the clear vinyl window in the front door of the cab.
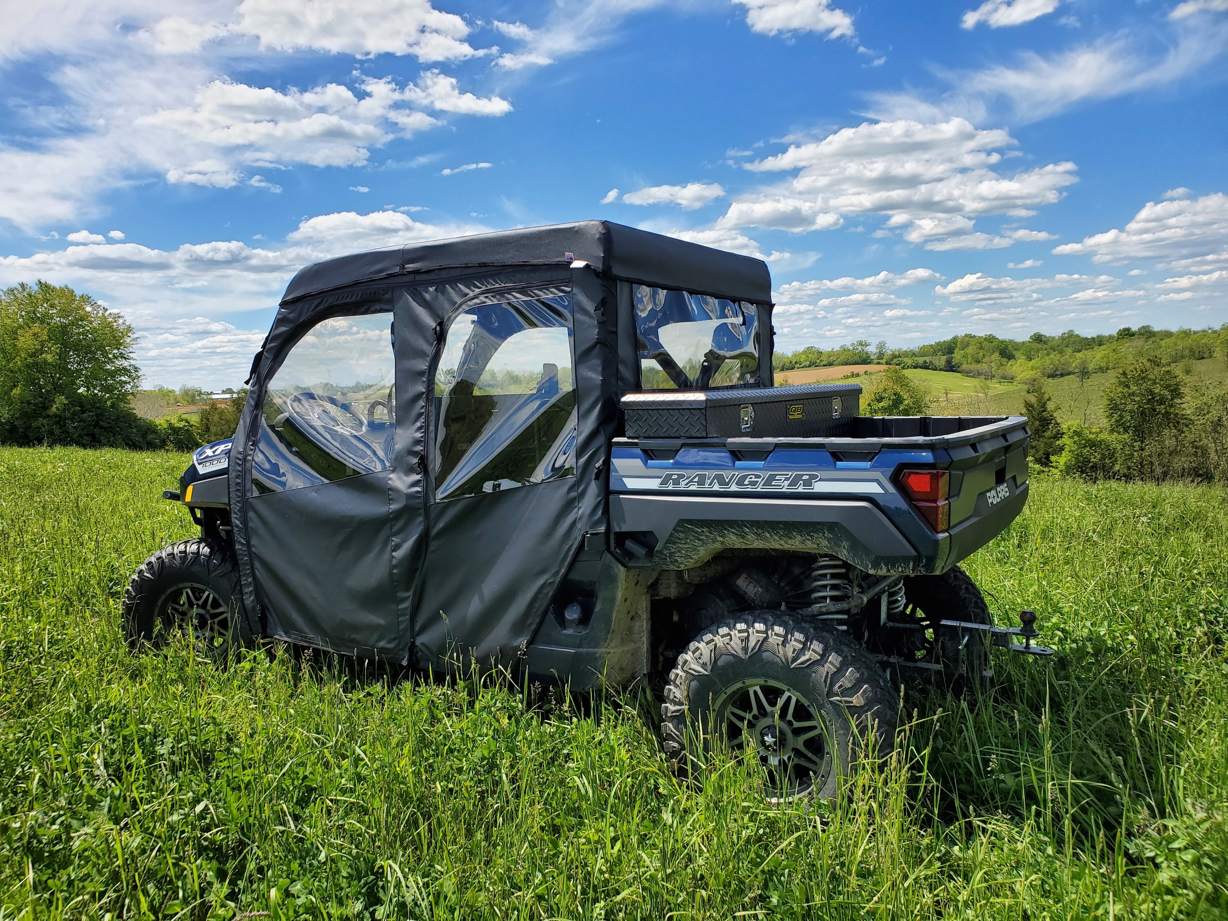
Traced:
[[269, 381], [252, 480], [275, 492], [392, 465], [392, 313], [317, 324]]

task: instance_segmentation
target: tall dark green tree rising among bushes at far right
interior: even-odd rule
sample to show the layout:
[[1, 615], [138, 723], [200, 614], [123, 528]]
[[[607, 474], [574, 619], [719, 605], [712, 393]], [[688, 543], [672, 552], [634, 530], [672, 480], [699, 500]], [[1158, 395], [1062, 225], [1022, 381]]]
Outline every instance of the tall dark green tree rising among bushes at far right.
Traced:
[[[1143, 335], [1149, 327], [1140, 327]], [[1181, 378], [1156, 359], [1142, 359], [1117, 372], [1104, 392], [1104, 418], [1109, 431], [1130, 440], [1131, 467], [1138, 476], [1162, 480], [1173, 469], [1173, 458], [1189, 418], [1181, 408]]]

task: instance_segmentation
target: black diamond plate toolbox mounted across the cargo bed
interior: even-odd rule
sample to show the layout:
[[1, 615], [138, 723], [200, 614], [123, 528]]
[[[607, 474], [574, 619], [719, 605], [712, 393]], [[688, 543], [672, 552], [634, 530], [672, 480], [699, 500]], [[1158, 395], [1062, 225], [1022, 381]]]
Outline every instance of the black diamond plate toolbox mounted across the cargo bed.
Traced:
[[648, 391], [621, 406], [629, 438], [841, 437], [861, 413], [861, 386]]

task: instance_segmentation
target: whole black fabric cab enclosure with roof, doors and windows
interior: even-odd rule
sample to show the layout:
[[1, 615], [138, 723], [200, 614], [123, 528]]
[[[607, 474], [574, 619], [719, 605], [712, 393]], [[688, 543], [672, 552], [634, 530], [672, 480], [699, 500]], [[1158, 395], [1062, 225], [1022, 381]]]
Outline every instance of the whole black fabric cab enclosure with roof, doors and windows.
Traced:
[[[726, 345], [691, 361], [667, 333], [648, 350], [636, 305], [667, 301], [717, 305], [699, 316]], [[770, 307], [763, 262], [599, 221], [307, 266], [232, 449], [253, 628], [418, 666], [513, 659], [605, 532], [607, 446], [645, 356], [674, 381], [706, 383], [715, 361], [770, 386]]]

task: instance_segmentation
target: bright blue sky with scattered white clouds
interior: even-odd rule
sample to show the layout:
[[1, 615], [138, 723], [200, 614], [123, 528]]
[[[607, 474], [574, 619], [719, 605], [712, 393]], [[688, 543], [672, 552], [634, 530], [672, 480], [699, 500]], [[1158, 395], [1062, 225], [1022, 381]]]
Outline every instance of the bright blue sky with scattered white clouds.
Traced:
[[6, 7], [0, 285], [150, 384], [316, 259], [588, 217], [766, 258], [785, 349], [1228, 321], [1228, 0]]

